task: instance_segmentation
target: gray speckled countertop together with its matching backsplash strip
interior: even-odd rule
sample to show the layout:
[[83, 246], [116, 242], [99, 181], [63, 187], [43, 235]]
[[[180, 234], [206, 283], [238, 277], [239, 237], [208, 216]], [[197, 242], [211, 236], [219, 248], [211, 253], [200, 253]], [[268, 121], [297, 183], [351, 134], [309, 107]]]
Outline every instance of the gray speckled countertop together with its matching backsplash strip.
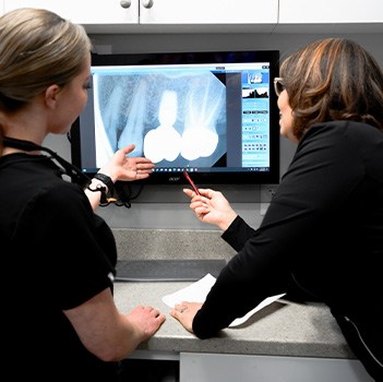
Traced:
[[[119, 260], [226, 259], [235, 252], [219, 231], [113, 229]], [[191, 282], [127, 282], [115, 284], [121, 312], [137, 305], [161, 310], [167, 320], [140, 349], [199, 351], [321, 358], [355, 358], [334, 318], [323, 305], [274, 302], [255, 313], [242, 327], [226, 329], [219, 337], [198, 339], [173, 318], [161, 297]]]

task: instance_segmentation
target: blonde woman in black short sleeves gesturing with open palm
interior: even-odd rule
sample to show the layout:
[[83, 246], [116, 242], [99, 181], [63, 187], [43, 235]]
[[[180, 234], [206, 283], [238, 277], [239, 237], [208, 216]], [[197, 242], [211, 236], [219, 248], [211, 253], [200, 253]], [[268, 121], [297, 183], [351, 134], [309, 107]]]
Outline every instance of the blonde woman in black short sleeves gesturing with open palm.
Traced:
[[128, 157], [130, 145], [84, 184], [41, 147], [68, 133], [89, 80], [82, 26], [38, 9], [0, 17], [2, 372], [21, 380], [116, 381], [119, 360], [165, 320], [153, 307], [118, 311], [115, 238], [94, 213], [115, 181], [148, 177], [153, 164]]

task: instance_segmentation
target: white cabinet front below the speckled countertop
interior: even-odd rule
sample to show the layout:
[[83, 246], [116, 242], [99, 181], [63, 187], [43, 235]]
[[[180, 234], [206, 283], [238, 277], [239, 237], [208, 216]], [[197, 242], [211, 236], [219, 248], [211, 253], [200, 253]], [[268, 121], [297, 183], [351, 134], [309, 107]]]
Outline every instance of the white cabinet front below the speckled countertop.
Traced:
[[373, 382], [357, 359], [181, 353], [180, 382]]

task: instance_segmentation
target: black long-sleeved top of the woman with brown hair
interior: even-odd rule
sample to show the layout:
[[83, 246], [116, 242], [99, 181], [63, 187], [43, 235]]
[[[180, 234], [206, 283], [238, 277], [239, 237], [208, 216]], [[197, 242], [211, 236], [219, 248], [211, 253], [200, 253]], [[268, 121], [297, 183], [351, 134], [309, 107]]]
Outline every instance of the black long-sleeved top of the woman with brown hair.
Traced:
[[237, 217], [223, 238], [238, 254], [193, 321], [199, 337], [216, 335], [268, 296], [299, 293], [332, 309], [351, 348], [382, 378], [381, 131], [348, 121], [313, 126], [260, 228]]

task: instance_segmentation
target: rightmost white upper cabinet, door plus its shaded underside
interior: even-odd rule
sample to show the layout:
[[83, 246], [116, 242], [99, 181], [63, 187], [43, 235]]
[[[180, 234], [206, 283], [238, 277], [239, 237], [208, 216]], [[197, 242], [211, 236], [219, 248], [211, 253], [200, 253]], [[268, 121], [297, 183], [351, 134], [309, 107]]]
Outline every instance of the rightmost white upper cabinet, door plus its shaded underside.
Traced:
[[[279, 0], [276, 32], [383, 32], [382, 0]], [[296, 31], [295, 31], [296, 29]]]

